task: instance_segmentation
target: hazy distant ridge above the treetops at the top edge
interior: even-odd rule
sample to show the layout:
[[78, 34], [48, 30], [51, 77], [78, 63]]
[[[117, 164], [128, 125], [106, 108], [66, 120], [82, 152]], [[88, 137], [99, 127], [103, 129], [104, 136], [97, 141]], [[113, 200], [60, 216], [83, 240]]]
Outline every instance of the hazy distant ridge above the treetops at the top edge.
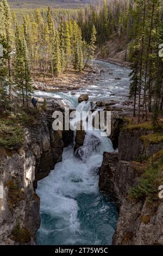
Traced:
[[96, 4], [98, 0], [8, 0], [11, 8], [39, 8], [47, 7], [53, 8], [69, 8], [80, 7], [84, 4]]

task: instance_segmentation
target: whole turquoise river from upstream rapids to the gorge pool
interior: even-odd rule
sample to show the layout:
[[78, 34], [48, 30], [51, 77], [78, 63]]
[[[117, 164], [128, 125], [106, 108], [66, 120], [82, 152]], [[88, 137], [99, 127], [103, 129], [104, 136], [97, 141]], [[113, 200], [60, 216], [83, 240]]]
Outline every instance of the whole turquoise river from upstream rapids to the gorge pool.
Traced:
[[[91, 101], [114, 100], [121, 105], [127, 100], [130, 71], [105, 62], [96, 61], [95, 65], [107, 71], [92, 77], [91, 83], [75, 94], [37, 91], [35, 96], [58, 97], [79, 112], [89, 111]], [[82, 93], [89, 95], [89, 102], [78, 103]], [[100, 131], [86, 131], [82, 151], [79, 159], [73, 154], [73, 145], [65, 148], [62, 162], [38, 182], [36, 192], [41, 198], [38, 245], [111, 245], [118, 212], [115, 203], [99, 193], [98, 169], [104, 151], [114, 149], [110, 139], [101, 137]]]

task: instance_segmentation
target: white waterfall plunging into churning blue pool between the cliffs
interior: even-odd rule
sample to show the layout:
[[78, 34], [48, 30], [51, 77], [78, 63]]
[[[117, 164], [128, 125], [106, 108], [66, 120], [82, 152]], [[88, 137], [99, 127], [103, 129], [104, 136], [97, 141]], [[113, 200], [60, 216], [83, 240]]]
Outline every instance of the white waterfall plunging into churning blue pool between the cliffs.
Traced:
[[[77, 106], [78, 112], [90, 111], [90, 102]], [[80, 121], [71, 120], [73, 125]], [[86, 131], [80, 159], [73, 147], [64, 149], [62, 162], [38, 182], [41, 198], [40, 245], [107, 245], [111, 243], [117, 221], [113, 202], [99, 193], [98, 169], [104, 151], [114, 151], [100, 131]]]

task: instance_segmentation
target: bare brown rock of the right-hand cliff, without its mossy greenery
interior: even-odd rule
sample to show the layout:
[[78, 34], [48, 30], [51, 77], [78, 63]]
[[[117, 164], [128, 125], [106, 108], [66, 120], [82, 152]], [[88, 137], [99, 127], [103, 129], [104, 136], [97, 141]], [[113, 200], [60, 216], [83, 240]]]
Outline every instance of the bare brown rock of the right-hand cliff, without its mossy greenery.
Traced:
[[144, 143], [143, 135], [153, 131], [122, 130], [119, 153], [104, 153], [99, 172], [99, 189], [115, 199], [120, 216], [113, 245], [163, 245], [163, 202], [150, 203], [146, 198], [130, 199], [128, 192], [137, 185], [141, 163], [137, 157], [153, 155], [162, 149], [162, 143]]

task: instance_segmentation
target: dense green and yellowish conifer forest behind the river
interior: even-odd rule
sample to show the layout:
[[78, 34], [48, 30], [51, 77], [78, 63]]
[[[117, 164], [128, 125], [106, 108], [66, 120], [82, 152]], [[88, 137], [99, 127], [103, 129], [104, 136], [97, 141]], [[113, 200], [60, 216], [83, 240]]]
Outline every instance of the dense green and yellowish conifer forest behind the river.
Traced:
[[153, 124], [158, 124], [163, 106], [163, 62], [158, 54], [163, 41], [162, 1], [102, 2], [76, 10], [14, 10], [7, 0], [1, 1], [1, 112], [17, 96], [28, 105], [33, 74], [42, 72], [55, 79], [70, 68], [83, 72], [90, 67], [96, 47], [114, 36], [126, 40], [134, 116], [138, 103], [138, 122], [153, 112]]

